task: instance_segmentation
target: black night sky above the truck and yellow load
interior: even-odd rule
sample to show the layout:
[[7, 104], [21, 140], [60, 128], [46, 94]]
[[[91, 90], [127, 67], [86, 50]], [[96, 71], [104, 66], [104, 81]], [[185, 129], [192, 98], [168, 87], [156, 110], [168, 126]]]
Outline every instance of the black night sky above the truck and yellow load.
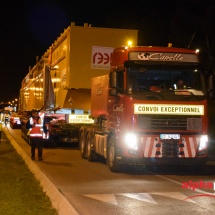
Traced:
[[21, 81], [29, 67], [35, 65], [36, 56], [40, 58], [71, 22], [77, 26], [89, 23], [93, 27], [137, 29], [138, 45], [167, 46], [172, 42], [174, 46], [187, 47], [195, 35], [190, 48], [198, 48], [204, 47], [205, 32], [214, 44], [213, 6], [213, 1], [207, 0], [3, 1], [0, 102], [18, 98]]

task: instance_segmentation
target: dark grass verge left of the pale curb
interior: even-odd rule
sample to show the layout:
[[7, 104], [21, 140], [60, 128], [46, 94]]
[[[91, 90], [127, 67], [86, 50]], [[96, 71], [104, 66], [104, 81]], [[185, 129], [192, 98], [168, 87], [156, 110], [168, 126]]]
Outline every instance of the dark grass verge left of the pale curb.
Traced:
[[2, 214], [58, 214], [4, 132], [0, 142], [0, 215]]

